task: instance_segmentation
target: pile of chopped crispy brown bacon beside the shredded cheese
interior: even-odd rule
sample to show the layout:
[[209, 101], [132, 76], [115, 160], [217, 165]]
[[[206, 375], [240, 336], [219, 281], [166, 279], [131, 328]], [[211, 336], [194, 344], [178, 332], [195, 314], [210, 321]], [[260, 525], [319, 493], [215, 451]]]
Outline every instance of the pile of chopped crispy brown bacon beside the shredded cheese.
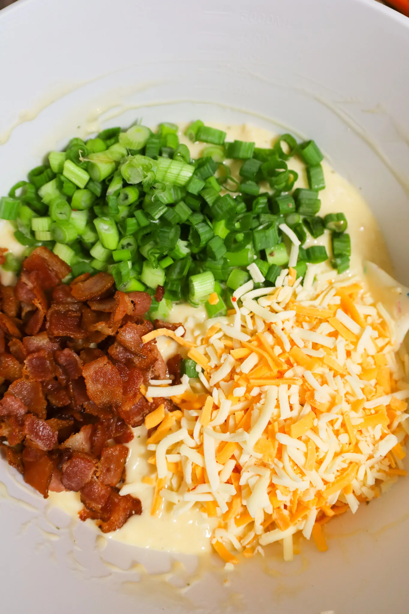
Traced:
[[156, 341], [142, 343], [154, 328], [141, 317], [149, 294], [115, 292], [107, 273], [84, 274], [68, 286], [62, 281], [69, 273], [37, 247], [16, 286], [0, 286], [0, 448], [44, 497], [80, 492], [80, 518], [109, 532], [142, 512], [139, 499], [121, 497], [118, 485], [130, 427], [158, 402], [171, 403], [148, 403], [141, 384], [168, 371]]

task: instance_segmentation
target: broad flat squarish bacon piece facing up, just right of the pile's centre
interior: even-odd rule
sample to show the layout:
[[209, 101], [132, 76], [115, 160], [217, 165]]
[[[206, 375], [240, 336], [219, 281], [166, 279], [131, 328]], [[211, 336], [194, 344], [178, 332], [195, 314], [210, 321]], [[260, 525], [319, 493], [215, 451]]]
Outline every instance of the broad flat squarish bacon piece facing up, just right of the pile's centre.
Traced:
[[88, 397], [98, 406], [119, 406], [122, 401], [122, 380], [117, 368], [106, 356], [82, 367]]

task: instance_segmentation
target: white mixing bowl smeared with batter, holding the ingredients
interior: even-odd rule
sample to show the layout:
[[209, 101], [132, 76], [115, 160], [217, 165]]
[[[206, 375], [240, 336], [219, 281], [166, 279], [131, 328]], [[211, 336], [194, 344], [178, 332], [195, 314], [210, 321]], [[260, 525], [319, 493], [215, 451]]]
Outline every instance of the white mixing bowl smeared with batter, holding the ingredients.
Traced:
[[[409, 20], [373, 0], [20, 0], [0, 14], [0, 194], [71, 136], [136, 117], [286, 126], [362, 190], [408, 284], [408, 58]], [[15, 475], [2, 461], [5, 614], [409, 611], [405, 479], [327, 525], [325, 554], [192, 577], [187, 556], [47, 521]]]

